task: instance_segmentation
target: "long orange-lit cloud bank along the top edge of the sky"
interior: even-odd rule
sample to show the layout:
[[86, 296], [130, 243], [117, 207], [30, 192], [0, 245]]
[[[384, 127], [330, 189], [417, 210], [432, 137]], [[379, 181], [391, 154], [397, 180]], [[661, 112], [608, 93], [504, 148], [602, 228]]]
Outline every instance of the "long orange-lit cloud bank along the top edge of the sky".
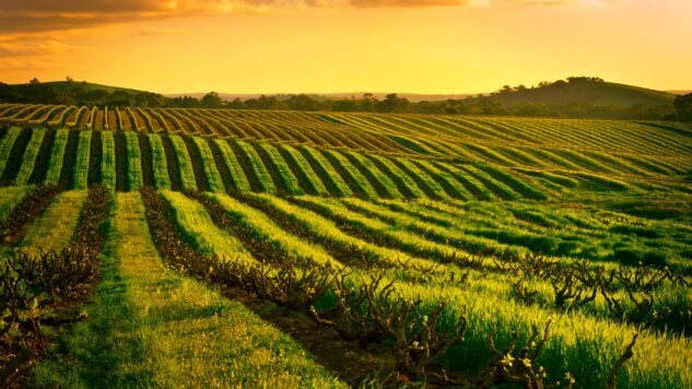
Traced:
[[[307, 8], [502, 7], [597, 4], [605, 0], [0, 0], [0, 34], [84, 30], [234, 11]], [[140, 35], [167, 34], [142, 31]]]

